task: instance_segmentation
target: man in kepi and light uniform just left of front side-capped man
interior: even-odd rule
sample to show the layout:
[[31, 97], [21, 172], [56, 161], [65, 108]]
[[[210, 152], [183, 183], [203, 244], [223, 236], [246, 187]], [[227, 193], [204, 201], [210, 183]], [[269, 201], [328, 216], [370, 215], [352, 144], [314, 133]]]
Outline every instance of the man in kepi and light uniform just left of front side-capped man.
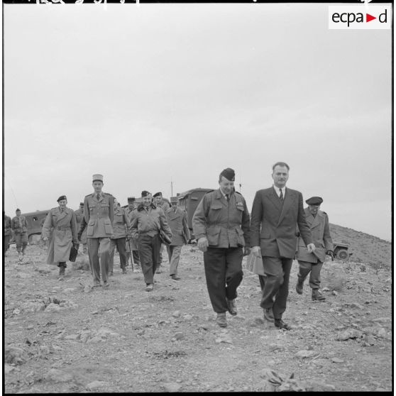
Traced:
[[167, 255], [169, 257], [169, 275], [173, 280], [180, 280], [177, 276], [177, 265], [179, 265], [180, 253], [182, 246], [189, 241], [189, 228], [187, 224], [187, 213], [185, 210], [177, 207], [179, 199], [177, 197], [170, 198], [172, 207], [165, 210], [167, 223], [172, 231], [172, 242], [167, 246]]

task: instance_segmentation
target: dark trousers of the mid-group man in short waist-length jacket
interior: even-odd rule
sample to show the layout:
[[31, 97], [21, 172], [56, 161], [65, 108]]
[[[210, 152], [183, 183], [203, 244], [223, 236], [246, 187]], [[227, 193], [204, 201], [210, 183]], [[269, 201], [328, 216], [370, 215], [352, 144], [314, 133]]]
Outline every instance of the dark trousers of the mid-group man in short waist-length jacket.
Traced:
[[138, 237], [138, 247], [144, 281], [146, 285], [154, 283], [161, 248], [160, 236], [141, 235]]

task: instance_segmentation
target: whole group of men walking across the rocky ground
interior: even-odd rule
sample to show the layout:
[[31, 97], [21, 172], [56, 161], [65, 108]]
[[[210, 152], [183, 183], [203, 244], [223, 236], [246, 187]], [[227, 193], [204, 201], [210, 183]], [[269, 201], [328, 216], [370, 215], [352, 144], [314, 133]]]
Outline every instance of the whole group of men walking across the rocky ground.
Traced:
[[[325, 299], [319, 292], [320, 270], [326, 255], [334, 258], [329, 219], [319, 210], [321, 197], [307, 199], [308, 207], [304, 209], [301, 192], [286, 187], [289, 170], [287, 163], [273, 165], [273, 186], [255, 193], [250, 216], [245, 199], [234, 188], [235, 172], [226, 168], [219, 175], [219, 189], [205, 194], [194, 212], [192, 228], [197, 246], [204, 253], [207, 290], [221, 327], [227, 326], [226, 312], [237, 314], [244, 255], [262, 260], [260, 307], [264, 320], [278, 329], [291, 329], [282, 316], [294, 258], [299, 263], [297, 293], [302, 294], [309, 275], [312, 299]], [[177, 206], [178, 198], [171, 197], [169, 207], [160, 192], [153, 196], [145, 190], [141, 203], [136, 206], [136, 199], [128, 197], [128, 207], [123, 209], [111, 194], [102, 192], [103, 185], [103, 175], [93, 175], [94, 192], [84, 198], [77, 211], [67, 208], [64, 195], [57, 199], [59, 207], [50, 210], [43, 224], [43, 240], [50, 238], [48, 263], [56, 263], [60, 275], [64, 275], [70, 249], [81, 242], [83, 252], [89, 255], [94, 287], [102, 282], [108, 288], [117, 247], [122, 273], [126, 273], [128, 260], [133, 258], [141, 266], [145, 290], [150, 292], [165, 243], [170, 277], [180, 280], [180, 253], [191, 236], [187, 214]], [[18, 253], [23, 254], [27, 244], [26, 219], [19, 209], [12, 221], [6, 217], [4, 234], [8, 229], [14, 230]]]

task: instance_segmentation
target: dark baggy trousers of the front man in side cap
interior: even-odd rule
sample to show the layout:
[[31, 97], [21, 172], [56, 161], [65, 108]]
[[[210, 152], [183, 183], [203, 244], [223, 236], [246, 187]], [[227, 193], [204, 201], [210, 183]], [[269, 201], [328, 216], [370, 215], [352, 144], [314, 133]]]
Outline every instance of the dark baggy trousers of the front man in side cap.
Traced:
[[205, 277], [214, 312], [226, 312], [226, 298], [236, 298], [243, 277], [242, 258], [242, 248], [208, 248], [204, 252]]

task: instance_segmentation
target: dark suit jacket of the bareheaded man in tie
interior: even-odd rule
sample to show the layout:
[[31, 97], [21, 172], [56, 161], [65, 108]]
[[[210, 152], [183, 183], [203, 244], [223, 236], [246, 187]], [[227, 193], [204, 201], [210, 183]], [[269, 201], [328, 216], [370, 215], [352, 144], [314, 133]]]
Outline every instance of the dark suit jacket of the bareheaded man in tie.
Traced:
[[251, 214], [251, 246], [260, 246], [263, 256], [294, 258], [297, 224], [304, 243], [312, 243], [301, 192], [286, 188], [283, 204], [273, 187], [255, 193]]

